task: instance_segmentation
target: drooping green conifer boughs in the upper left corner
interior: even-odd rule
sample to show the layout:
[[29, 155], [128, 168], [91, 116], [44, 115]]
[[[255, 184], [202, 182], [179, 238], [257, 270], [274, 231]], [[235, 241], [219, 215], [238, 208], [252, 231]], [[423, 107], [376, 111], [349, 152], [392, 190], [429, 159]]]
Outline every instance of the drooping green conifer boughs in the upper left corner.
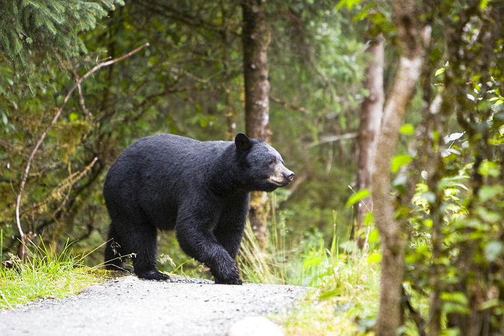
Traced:
[[43, 57], [70, 58], [87, 51], [80, 32], [94, 29], [97, 20], [124, 5], [123, 0], [3, 0], [0, 2], [0, 55], [5, 60]]

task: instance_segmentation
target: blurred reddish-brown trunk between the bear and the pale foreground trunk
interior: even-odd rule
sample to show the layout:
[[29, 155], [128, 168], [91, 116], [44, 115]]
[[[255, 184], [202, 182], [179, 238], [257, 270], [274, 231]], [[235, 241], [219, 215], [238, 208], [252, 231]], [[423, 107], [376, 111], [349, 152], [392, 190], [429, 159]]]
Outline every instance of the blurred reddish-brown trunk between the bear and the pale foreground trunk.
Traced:
[[[383, 67], [385, 63], [384, 52], [385, 38], [383, 34], [371, 38], [366, 53], [369, 55], [368, 67], [364, 88], [369, 95], [362, 103], [360, 115], [359, 135], [357, 145], [359, 147], [359, 167], [357, 171], [357, 189], [371, 189], [371, 174], [374, 171], [374, 156], [380, 127], [382, 126], [383, 104], [385, 94], [383, 91]], [[367, 197], [354, 206], [354, 218], [356, 230], [353, 238], [360, 248], [364, 246], [362, 227], [365, 215], [371, 211], [371, 198]]]

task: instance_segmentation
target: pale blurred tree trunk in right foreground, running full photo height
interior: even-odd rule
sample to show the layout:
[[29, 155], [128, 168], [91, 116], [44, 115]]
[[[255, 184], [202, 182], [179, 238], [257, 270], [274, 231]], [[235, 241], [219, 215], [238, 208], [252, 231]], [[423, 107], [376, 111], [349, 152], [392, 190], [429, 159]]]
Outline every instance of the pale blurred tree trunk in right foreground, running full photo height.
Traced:
[[397, 329], [403, 323], [401, 299], [405, 237], [394, 217], [393, 199], [390, 195], [391, 160], [395, 154], [399, 127], [404, 122], [406, 108], [420, 76], [424, 58], [422, 38], [426, 40], [430, 33], [429, 29], [421, 30], [419, 27], [414, 0], [395, 1], [393, 16], [401, 59], [385, 105], [374, 161], [375, 171], [371, 178], [374, 220], [380, 232], [383, 249], [380, 311], [375, 326], [377, 336], [396, 335]]

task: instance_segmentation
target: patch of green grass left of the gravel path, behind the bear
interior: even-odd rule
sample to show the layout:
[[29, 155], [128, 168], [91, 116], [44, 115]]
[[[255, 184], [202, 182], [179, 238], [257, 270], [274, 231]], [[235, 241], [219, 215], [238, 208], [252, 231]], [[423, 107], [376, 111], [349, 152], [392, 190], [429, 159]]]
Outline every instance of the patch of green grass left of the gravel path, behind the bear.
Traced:
[[73, 256], [68, 245], [58, 254], [43, 243], [30, 246], [30, 258], [25, 262], [9, 255], [10, 267], [0, 265], [0, 310], [41, 298], [64, 298], [103, 279], [100, 271], [84, 266], [82, 258]]

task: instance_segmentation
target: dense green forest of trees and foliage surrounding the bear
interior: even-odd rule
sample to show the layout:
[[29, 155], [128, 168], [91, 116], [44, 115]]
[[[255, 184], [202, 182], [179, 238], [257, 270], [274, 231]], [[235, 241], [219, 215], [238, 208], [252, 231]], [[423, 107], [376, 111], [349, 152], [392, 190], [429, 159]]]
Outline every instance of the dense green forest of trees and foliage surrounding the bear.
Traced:
[[[266, 19], [265, 131], [296, 173], [267, 202], [270, 235], [381, 263], [377, 334], [404, 317], [419, 334], [504, 331], [502, 2], [0, 4], [4, 259], [20, 232], [100, 246], [105, 173], [136, 139], [246, 130], [249, 6]], [[201, 271], [162, 240], [165, 270]]]

